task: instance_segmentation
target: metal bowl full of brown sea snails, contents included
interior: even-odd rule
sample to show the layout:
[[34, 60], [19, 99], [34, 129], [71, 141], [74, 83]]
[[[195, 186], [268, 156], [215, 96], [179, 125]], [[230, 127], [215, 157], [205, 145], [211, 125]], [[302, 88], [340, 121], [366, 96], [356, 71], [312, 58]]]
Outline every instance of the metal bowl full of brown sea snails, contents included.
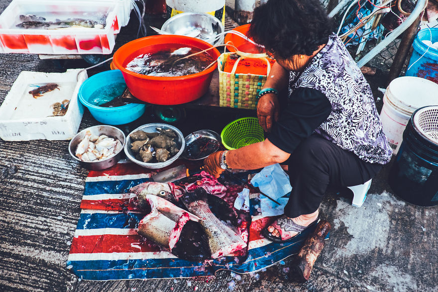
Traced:
[[172, 164], [184, 151], [184, 136], [168, 124], [151, 123], [139, 126], [126, 138], [126, 156], [144, 168], [160, 169]]

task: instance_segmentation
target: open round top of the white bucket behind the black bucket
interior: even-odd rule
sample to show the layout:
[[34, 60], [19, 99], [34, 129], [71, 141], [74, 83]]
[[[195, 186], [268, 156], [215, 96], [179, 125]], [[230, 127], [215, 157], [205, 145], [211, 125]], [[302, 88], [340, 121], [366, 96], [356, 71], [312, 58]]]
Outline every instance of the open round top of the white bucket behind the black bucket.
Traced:
[[438, 84], [420, 77], [396, 78], [385, 94], [394, 106], [410, 114], [420, 107], [438, 104]]

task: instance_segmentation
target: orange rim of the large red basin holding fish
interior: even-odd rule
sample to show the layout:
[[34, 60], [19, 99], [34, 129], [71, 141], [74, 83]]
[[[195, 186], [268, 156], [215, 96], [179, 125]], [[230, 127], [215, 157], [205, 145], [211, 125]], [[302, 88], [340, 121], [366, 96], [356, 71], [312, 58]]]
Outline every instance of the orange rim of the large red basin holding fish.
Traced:
[[[113, 56], [112, 61], [114, 62], [115, 67], [116, 67], [117, 69], [119, 69], [121, 72], [123, 72], [123, 73], [125, 73], [125, 74], [128, 74], [128, 75], [131, 75], [131, 76], [133, 76], [133, 77], [137, 77], [137, 78], [140, 78], [140, 79], [146, 79], [146, 80], [156, 80], [156, 81], [176, 81], [176, 80], [187, 80], [187, 79], [192, 79], [192, 78], [196, 78], [196, 77], [201, 77], [201, 76], [204, 76], [204, 75], [208, 75], [208, 74], [210, 74], [210, 73], [212, 73], [213, 71], [216, 70], [216, 67], [217, 67], [217, 66], [214, 66], [214, 65], [213, 65], [212, 67], [210, 67], [210, 68], [207, 69], [207, 70], [203, 70], [203, 71], [201, 71], [201, 72], [199, 72], [199, 73], [190, 74], [190, 75], [183, 75], [183, 76], [169, 76], [169, 77], [162, 77], [162, 76], [149, 76], [149, 75], [143, 75], [143, 74], [139, 74], [139, 73], [135, 73], [135, 72], [132, 72], [132, 71], [130, 71], [130, 70], [127, 70], [126, 68], [124, 68], [123, 66], [121, 66], [121, 64], [118, 62], [118, 59], [119, 59], [118, 55], [121, 54], [120, 51], [122, 50], [122, 48], [123, 48], [123, 49], [126, 49], [127, 46], [130, 46], [130, 45], [132, 45], [133, 43], [136, 43], [136, 42], [142, 42], [145, 38], [148, 38], [148, 39], [150, 39], [150, 38], [162, 38], [163, 36], [167, 36], [167, 35], [153, 35], [153, 36], [146, 36], [146, 37], [139, 38], [139, 39], [136, 39], [136, 40], [133, 40], [133, 41], [130, 41], [130, 42], [124, 44], [123, 46], [121, 46], [120, 48], [118, 48], [117, 51], [115, 51], [115, 53], [114, 53], [114, 56]], [[175, 39], [175, 43], [178, 43], [178, 39], [181, 39], [181, 38], [182, 38], [182, 39], [196, 40], [196, 42], [198, 42], [198, 43], [205, 44], [205, 45], [207, 45], [208, 47], [213, 47], [213, 45], [209, 44], [208, 42], [203, 41], [203, 40], [200, 40], [200, 39], [197, 39], [197, 38], [194, 38], [194, 37], [189, 37], [189, 36], [184, 36], [184, 35], [174, 35], [174, 37], [176, 38], [176, 39]], [[159, 43], [157, 43], [157, 44], [159, 44]], [[149, 46], [149, 45], [148, 45], [148, 46]], [[220, 52], [219, 52], [219, 50], [218, 50], [217, 48], [214, 48], [214, 49], [211, 50], [211, 51], [215, 52], [215, 53], [218, 55], [218, 59], [219, 59], [219, 56], [220, 56]], [[216, 60], [218, 60], [218, 59], [216, 59]]]

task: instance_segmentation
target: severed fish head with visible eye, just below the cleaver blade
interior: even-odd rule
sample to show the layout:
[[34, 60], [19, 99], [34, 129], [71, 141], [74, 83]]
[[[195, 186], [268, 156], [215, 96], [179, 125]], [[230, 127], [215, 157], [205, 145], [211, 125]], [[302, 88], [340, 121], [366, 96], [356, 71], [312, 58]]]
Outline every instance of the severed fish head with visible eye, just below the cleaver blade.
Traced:
[[170, 202], [176, 202], [183, 195], [184, 189], [173, 183], [146, 182], [131, 188], [129, 192], [137, 195], [140, 207], [146, 207], [148, 204], [146, 195], [156, 195]]

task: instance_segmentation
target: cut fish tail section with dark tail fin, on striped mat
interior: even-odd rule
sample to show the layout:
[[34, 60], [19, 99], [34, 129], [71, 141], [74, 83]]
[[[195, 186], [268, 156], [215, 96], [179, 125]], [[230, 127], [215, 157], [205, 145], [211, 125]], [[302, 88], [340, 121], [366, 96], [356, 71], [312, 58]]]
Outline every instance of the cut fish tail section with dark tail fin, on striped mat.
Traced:
[[246, 243], [237, 231], [233, 230], [232, 225], [219, 220], [210, 210], [204, 189], [199, 188], [194, 193], [186, 193], [180, 200], [189, 211], [201, 218], [200, 223], [209, 238], [212, 258], [226, 256], [246, 247]]

